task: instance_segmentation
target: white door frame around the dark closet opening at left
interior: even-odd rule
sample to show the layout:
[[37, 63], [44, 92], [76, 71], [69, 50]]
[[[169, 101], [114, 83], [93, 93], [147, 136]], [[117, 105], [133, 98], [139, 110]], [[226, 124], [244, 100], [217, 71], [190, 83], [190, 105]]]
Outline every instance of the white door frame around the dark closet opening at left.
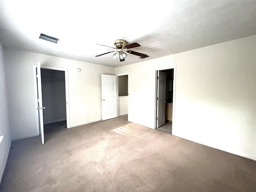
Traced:
[[[37, 102], [37, 84], [36, 84], [36, 68], [37, 65], [33, 65], [33, 76], [34, 76], [34, 94], [35, 94], [35, 109], [38, 106]], [[51, 70], [58, 70], [65, 72], [65, 90], [66, 90], [66, 121], [67, 121], [67, 128], [70, 128], [70, 113], [69, 113], [69, 91], [68, 91], [68, 69], [66, 68], [58, 68], [58, 67], [50, 67], [50, 66], [42, 66], [41, 69], [51, 69]], [[36, 134], [39, 135], [39, 117], [38, 117], [38, 110], [36, 110]]]

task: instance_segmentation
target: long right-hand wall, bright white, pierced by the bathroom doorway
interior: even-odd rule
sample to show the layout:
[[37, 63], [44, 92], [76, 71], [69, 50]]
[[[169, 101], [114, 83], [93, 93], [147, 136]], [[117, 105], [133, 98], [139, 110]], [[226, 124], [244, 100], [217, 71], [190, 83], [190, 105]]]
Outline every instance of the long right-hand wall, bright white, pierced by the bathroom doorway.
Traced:
[[155, 71], [176, 65], [173, 134], [256, 160], [256, 36], [116, 68], [128, 120], [155, 127]]

